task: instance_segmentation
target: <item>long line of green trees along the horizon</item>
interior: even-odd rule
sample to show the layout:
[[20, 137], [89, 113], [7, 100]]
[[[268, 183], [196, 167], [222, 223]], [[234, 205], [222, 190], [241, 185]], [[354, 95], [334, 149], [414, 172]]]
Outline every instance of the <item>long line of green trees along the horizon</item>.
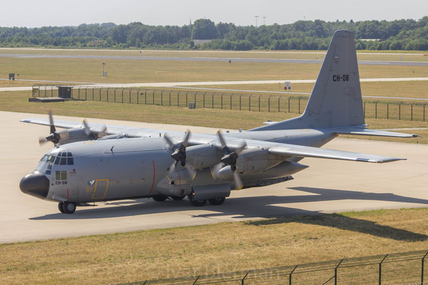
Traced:
[[[158, 48], [325, 50], [334, 31], [355, 32], [357, 49], [428, 50], [428, 16], [394, 21], [296, 21], [269, 26], [215, 24], [198, 19], [184, 26], [148, 26], [140, 22], [41, 28], [0, 27], [1, 47], [43, 46], [53, 48]], [[196, 39], [209, 39], [202, 46]]]

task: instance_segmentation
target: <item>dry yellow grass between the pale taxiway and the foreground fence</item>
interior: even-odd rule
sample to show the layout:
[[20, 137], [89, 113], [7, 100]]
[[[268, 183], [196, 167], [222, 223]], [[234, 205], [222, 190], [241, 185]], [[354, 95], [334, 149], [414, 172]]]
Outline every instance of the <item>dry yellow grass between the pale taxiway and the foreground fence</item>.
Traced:
[[427, 209], [1, 244], [1, 284], [114, 284], [427, 249]]

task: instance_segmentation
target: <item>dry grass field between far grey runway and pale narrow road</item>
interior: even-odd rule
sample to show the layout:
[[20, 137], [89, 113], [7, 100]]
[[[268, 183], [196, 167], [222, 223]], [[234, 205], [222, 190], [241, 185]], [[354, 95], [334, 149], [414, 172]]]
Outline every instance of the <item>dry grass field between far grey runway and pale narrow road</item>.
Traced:
[[[3, 78], [17, 73], [21, 80], [85, 83], [315, 79], [320, 71], [320, 64], [308, 63], [108, 60], [103, 77], [102, 61], [94, 59], [0, 58], [0, 64]], [[361, 78], [427, 76], [424, 66], [360, 66]]]

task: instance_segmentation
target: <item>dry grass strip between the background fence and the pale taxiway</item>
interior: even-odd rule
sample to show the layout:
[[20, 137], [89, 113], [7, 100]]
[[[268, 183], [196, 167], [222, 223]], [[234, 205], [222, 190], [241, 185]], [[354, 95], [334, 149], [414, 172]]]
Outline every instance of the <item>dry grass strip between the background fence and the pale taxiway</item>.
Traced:
[[[303, 109], [304, 107], [302, 107]], [[106, 103], [96, 101], [67, 101], [61, 103], [30, 103], [28, 92], [1, 92], [0, 110], [24, 113], [68, 115], [86, 118], [106, 118], [111, 120], [131, 120], [148, 123], [183, 124], [223, 129], [248, 130], [256, 128], [266, 120], [279, 121], [293, 118], [297, 114], [267, 113], [237, 110], [219, 110], [184, 107], [164, 107], [159, 105], [136, 105], [127, 103]], [[409, 120], [366, 119], [372, 129], [386, 128], [428, 128], [427, 122]], [[397, 142], [428, 143], [428, 130], [409, 130], [404, 133], [417, 133], [422, 138], [368, 138]], [[354, 137], [355, 138], [355, 137]], [[364, 137], [358, 137], [364, 138]]]

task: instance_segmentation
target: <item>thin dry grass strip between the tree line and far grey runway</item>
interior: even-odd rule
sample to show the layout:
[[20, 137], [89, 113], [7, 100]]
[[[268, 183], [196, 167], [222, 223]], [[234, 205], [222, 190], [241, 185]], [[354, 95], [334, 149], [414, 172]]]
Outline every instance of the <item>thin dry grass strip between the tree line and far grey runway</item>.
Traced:
[[[324, 59], [326, 51], [153, 51], [153, 50], [71, 50], [0, 48], [0, 54], [58, 54], [105, 56], [173, 56], [208, 58], [287, 58]], [[422, 51], [357, 51], [360, 61], [428, 61]]]

